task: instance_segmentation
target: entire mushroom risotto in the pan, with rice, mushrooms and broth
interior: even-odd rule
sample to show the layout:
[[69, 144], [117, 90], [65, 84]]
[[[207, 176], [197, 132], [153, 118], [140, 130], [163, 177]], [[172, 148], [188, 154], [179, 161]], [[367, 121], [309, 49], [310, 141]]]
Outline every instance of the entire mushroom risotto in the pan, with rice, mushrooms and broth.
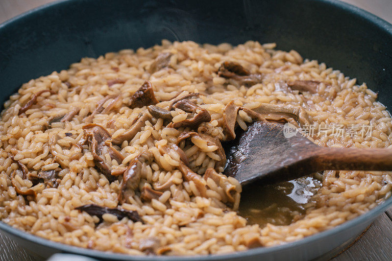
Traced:
[[164, 40], [23, 84], [1, 113], [0, 219], [102, 251], [207, 255], [374, 208], [391, 195], [389, 172], [324, 171], [243, 193], [222, 174], [221, 143], [257, 120], [312, 129], [320, 146], [391, 148], [390, 114], [365, 83], [274, 48]]

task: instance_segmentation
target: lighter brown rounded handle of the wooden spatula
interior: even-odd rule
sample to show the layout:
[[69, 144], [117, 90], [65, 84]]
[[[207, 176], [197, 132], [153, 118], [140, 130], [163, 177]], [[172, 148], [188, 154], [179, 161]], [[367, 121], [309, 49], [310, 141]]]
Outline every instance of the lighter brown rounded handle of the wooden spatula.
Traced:
[[320, 170], [392, 170], [392, 149], [319, 148], [316, 164]]

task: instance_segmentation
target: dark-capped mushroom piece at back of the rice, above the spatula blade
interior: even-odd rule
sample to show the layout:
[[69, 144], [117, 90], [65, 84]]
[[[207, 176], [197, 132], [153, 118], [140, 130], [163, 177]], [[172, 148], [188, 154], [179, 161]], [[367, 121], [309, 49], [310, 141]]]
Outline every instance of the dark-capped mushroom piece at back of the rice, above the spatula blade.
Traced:
[[253, 86], [261, 83], [262, 76], [258, 73], [250, 73], [242, 65], [236, 62], [223, 62], [218, 70], [218, 75], [224, 78], [233, 79], [239, 85]]

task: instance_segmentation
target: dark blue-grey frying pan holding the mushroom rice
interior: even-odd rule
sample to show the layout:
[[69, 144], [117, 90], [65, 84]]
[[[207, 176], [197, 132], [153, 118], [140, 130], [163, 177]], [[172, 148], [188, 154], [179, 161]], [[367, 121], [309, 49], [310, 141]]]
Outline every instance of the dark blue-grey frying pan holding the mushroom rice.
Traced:
[[[379, 92], [392, 105], [392, 25], [336, 0], [63, 0], [0, 25], [0, 98], [29, 79], [67, 69], [81, 57], [151, 47], [161, 39], [233, 45], [276, 42], [318, 59]], [[230, 255], [135, 257], [55, 243], [0, 222], [3, 233], [49, 257], [76, 253], [102, 260], [310, 260], [357, 237], [392, 198], [333, 229], [284, 245]]]

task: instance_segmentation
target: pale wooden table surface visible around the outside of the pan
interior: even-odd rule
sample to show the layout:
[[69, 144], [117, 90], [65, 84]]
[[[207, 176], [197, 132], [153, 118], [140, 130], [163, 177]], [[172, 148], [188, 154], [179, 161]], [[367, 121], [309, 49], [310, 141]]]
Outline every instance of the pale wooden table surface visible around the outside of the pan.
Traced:
[[[0, 0], [0, 23], [29, 9], [53, 0]], [[392, 0], [343, 0], [361, 7], [392, 24]], [[1, 261], [42, 260], [25, 251], [0, 233]], [[337, 256], [335, 256], [337, 255]], [[334, 257], [335, 256], [335, 257]], [[368, 230], [343, 253], [330, 254], [320, 260], [392, 260], [392, 208], [381, 214]]]

